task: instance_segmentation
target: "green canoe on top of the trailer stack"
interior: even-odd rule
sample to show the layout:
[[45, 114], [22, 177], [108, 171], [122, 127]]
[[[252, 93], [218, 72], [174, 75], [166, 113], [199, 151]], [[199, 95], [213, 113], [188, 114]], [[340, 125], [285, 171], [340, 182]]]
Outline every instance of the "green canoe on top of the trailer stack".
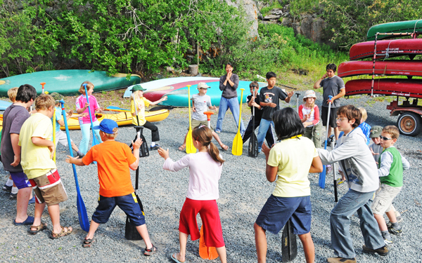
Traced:
[[[401, 22], [390, 22], [380, 25], [374, 25], [368, 30], [366, 38], [368, 41], [375, 40], [376, 33], [422, 33], [422, 20], [411, 20]], [[397, 36], [389, 35], [378, 35], [376, 39], [389, 39]]]

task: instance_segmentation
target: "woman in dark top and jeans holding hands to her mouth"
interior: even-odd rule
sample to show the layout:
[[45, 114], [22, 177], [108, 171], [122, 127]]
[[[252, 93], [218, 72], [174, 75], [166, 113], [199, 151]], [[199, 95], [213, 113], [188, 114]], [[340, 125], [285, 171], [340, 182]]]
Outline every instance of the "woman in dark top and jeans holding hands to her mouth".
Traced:
[[[233, 74], [233, 66], [230, 62], [226, 64], [226, 72], [224, 76], [220, 77], [219, 88], [223, 91], [222, 98], [220, 99], [220, 105], [218, 110], [217, 127], [215, 128], [216, 133], [221, 133], [224, 115], [226, 115], [227, 109], [230, 108], [231, 114], [233, 114], [234, 121], [236, 121], [236, 127], [239, 126], [239, 102], [237, 95], [237, 88], [239, 86], [239, 76]], [[241, 121], [241, 134], [245, 133], [245, 126]]]

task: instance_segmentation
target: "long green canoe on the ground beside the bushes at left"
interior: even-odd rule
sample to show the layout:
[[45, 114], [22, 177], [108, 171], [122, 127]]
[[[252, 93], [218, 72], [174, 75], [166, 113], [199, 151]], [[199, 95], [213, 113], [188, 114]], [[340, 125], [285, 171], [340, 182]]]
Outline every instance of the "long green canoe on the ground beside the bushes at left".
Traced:
[[91, 81], [94, 84], [94, 92], [98, 92], [126, 88], [127, 86], [140, 83], [141, 77], [138, 75], [132, 75], [128, 81], [126, 79], [126, 74], [107, 76], [106, 72], [91, 72], [87, 69], [65, 69], [34, 72], [0, 79], [0, 95], [6, 96], [7, 90], [13, 87], [19, 87], [23, 84], [30, 84], [34, 86], [37, 90], [37, 94], [41, 94], [41, 82], [46, 83], [44, 90], [49, 93], [56, 92], [62, 95], [79, 95], [79, 87], [84, 81]]

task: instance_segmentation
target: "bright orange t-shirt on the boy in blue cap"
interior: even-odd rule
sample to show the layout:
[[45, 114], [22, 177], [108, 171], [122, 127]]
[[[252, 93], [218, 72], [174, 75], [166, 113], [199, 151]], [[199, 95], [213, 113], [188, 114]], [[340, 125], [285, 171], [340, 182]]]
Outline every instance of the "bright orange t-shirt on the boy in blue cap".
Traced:
[[115, 140], [97, 144], [82, 158], [86, 166], [93, 161], [98, 166], [101, 196], [127, 196], [134, 192], [129, 166], [136, 161], [136, 157], [127, 144]]

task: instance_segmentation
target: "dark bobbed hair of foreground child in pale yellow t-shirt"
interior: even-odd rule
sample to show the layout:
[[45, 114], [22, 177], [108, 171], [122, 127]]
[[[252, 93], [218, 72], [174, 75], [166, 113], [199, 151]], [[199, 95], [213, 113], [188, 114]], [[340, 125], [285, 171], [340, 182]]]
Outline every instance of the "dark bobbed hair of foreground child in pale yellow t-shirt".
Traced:
[[300, 121], [299, 114], [293, 108], [279, 109], [274, 112], [272, 119], [278, 140], [285, 140], [305, 133], [305, 127]]

